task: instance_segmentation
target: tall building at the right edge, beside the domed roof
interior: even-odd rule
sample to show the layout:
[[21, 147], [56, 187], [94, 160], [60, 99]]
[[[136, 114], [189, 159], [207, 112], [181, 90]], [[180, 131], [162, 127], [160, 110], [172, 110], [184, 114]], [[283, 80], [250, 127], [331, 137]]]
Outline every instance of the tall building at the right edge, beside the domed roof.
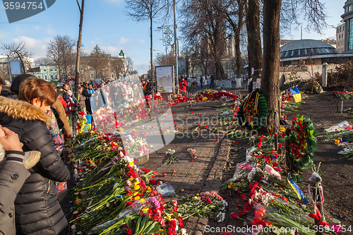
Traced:
[[344, 21], [344, 31], [345, 31], [345, 50], [344, 52], [353, 50], [353, 0], [348, 0], [345, 2], [345, 13], [341, 16]]

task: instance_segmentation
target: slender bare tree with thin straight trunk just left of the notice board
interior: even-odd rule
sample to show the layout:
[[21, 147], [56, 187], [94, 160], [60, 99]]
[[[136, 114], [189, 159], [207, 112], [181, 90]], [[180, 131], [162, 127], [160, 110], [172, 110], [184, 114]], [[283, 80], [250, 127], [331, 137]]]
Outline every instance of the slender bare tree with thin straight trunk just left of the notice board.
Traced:
[[[150, 66], [152, 69], [152, 87], [154, 87], [155, 71], [153, 69], [153, 44], [152, 25], [153, 22], [167, 20], [169, 12], [168, 0], [125, 0], [126, 13], [137, 22], [150, 20]], [[154, 89], [152, 89], [154, 92]]]

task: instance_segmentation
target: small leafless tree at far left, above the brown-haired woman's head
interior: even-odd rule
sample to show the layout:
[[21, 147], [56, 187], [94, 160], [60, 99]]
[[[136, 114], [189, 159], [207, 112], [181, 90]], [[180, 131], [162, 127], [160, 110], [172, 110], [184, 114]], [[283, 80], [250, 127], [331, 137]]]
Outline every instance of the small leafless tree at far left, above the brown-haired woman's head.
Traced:
[[23, 73], [26, 73], [31, 68], [32, 65], [29, 58], [33, 56], [33, 52], [28, 52], [25, 41], [2, 44], [2, 49], [12, 58], [20, 60]]

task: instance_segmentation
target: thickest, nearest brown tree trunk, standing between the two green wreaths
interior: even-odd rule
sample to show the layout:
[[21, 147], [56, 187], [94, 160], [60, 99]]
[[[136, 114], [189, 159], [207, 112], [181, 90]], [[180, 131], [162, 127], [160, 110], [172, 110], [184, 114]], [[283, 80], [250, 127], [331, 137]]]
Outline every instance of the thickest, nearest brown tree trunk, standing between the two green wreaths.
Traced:
[[[280, 11], [282, 0], [263, 3], [263, 72], [261, 90], [268, 103], [268, 121], [265, 128], [274, 131], [280, 99]], [[275, 124], [275, 125], [274, 125]]]

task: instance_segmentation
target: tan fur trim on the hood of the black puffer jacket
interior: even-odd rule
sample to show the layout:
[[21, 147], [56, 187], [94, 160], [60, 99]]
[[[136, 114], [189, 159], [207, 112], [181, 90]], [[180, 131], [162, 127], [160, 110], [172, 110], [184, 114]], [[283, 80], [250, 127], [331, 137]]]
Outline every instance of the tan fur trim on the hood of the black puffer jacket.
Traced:
[[42, 109], [35, 107], [22, 100], [13, 100], [6, 97], [0, 97], [0, 112], [6, 114], [12, 119], [40, 120], [50, 126], [49, 115]]

